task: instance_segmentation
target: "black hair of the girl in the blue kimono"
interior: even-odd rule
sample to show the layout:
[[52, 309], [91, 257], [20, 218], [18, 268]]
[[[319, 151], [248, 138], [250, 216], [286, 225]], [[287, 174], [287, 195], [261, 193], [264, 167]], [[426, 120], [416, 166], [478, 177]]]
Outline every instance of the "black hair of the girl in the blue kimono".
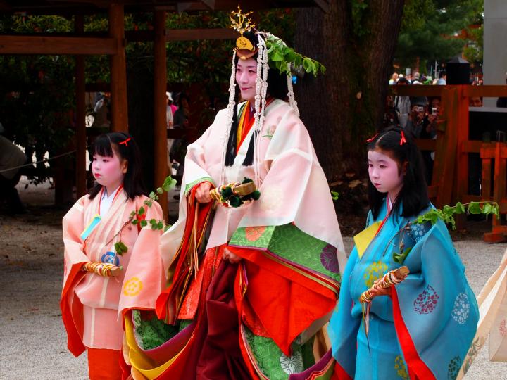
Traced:
[[[405, 142], [403, 142], [403, 139]], [[427, 195], [427, 184], [425, 180], [425, 171], [423, 158], [410, 132], [404, 131], [400, 127], [391, 127], [384, 132], [380, 132], [368, 144], [368, 151], [377, 151], [388, 153], [391, 158], [398, 163], [398, 170], [403, 170], [403, 187], [393, 205], [394, 215], [398, 215], [400, 205], [403, 205], [401, 216], [411, 217], [417, 215], [421, 210], [427, 208], [430, 204], [430, 198]], [[380, 193], [371, 180], [368, 181], [368, 201], [370, 210], [376, 219], [386, 194]]]

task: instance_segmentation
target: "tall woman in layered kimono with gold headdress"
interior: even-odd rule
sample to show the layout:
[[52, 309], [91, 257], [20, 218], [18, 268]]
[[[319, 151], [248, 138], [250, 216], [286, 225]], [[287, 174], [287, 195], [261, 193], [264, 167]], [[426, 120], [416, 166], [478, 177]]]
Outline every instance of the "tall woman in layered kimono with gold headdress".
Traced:
[[[315, 363], [313, 336], [337, 303], [342, 237], [290, 77], [270, 67], [270, 38], [238, 39], [229, 107], [188, 147], [180, 219], [162, 237], [168, 287], [153, 295], [165, 324], [148, 310], [125, 314], [134, 379], [332, 375], [330, 352]], [[245, 177], [257, 201], [212, 198]]]

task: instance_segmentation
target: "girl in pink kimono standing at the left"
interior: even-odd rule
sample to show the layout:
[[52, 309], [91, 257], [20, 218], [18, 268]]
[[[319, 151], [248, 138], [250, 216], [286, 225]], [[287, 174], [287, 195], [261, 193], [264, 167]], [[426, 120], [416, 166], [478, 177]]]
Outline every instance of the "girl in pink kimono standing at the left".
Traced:
[[[113, 132], [97, 137], [92, 172], [96, 186], [63, 217], [60, 306], [68, 348], [75, 356], [87, 350], [90, 379], [120, 379], [123, 318], [118, 316], [118, 305], [153, 289], [159, 291], [162, 286], [160, 276], [146, 279], [139, 270], [135, 276], [129, 275], [132, 258], [157, 258], [161, 262], [161, 233], [127, 221], [132, 211], [141, 208], [146, 211], [139, 219], [159, 220], [161, 208], [156, 202], [151, 207], [144, 204], [149, 198], [144, 195], [139, 148], [128, 134]], [[118, 241], [127, 247], [123, 255], [115, 250]], [[161, 265], [158, 269], [161, 271]], [[154, 270], [151, 268], [150, 273]], [[146, 306], [153, 307], [154, 303]]]

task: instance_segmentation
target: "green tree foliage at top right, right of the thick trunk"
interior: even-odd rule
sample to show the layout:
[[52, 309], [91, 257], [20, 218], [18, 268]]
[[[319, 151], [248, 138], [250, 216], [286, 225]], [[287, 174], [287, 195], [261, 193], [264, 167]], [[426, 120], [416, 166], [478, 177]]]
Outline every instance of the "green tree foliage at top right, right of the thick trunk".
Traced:
[[482, 0], [407, 0], [395, 59], [410, 66], [420, 61], [447, 60], [463, 51], [461, 30], [482, 23]]

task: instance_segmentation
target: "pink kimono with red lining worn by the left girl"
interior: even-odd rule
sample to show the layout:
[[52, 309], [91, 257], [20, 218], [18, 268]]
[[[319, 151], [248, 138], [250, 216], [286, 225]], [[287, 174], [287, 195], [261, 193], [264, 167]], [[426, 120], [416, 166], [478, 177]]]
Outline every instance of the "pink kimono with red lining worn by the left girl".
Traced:
[[[81, 271], [85, 262], [103, 261], [108, 254], [113, 255], [114, 244], [120, 237], [116, 236], [110, 243], [108, 241], [129, 220], [132, 211], [144, 207], [146, 220], [162, 219], [158, 203], [147, 207], [144, 205], [148, 199], [146, 196], [136, 196], [132, 201], [127, 198], [125, 191], [120, 191], [106, 215], [83, 240], [82, 232], [99, 213], [100, 198], [101, 194], [93, 200], [88, 195], [83, 196], [63, 217], [65, 253], [60, 308], [68, 334], [68, 348], [75, 356], [80, 355], [86, 347], [120, 350], [123, 319], [118, 315], [118, 310], [128, 308], [132, 300], [135, 300], [138, 308], [154, 308], [155, 300], [144, 296], [160, 292], [165, 285], [159, 252], [161, 231], [152, 230], [150, 224], [140, 230], [132, 224], [123, 228], [121, 241], [128, 251], [118, 256], [117, 265], [123, 267], [118, 277], [102, 277]], [[134, 261], [140, 264], [131, 268], [129, 262], [132, 259], [137, 259]], [[151, 274], [156, 272], [158, 263], [161, 275], [148, 276], [143, 262], [155, 266], [150, 268]]]

